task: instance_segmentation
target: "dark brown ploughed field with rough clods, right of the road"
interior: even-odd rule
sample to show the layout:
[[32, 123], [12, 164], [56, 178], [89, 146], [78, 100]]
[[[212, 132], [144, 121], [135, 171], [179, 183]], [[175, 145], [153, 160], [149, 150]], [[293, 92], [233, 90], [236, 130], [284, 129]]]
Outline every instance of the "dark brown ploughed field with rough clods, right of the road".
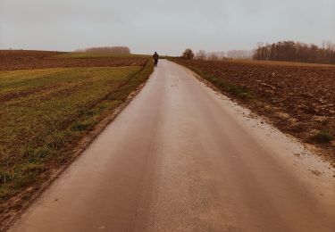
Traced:
[[335, 165], [335, 66], [175, 59]]

